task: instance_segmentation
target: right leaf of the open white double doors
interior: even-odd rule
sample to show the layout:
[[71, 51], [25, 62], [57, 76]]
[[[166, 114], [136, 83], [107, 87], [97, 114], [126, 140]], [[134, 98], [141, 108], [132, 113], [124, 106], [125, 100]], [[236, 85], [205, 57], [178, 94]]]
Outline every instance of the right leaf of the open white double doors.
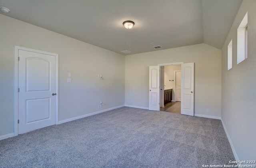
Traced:
[[181, 114], [194, 116], [194, 63], [181, 64]]

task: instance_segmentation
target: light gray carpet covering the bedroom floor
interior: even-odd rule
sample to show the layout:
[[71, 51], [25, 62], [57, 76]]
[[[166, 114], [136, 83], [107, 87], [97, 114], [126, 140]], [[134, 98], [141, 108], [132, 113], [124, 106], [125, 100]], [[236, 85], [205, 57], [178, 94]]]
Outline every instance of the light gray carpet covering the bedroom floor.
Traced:
[[202, 168], [230, 160], [220, 120], [130, 107], [0, 141], [1, 168]]

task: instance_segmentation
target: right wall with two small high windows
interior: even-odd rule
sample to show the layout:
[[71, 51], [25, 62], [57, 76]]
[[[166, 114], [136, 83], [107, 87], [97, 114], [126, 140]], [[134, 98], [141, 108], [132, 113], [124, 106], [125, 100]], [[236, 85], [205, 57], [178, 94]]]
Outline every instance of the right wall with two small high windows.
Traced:
[[[248, 58], [237, 65], [237, 28], [247, 11]], [[227, 70], [227, 47], [231, 39], [232, 69]], [[256, 1], [244, 0], [222, 47], [222, 122], [237, 160], [256, 160], [255, 45]]]

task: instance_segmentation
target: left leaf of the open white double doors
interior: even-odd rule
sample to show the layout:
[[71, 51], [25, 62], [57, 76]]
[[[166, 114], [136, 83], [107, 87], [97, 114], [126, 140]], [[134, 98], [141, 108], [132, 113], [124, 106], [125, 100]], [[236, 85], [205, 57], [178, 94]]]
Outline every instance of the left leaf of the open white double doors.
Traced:
[[159, 103], [159, 66], [149, 67], [149, 110], [160, 111]]

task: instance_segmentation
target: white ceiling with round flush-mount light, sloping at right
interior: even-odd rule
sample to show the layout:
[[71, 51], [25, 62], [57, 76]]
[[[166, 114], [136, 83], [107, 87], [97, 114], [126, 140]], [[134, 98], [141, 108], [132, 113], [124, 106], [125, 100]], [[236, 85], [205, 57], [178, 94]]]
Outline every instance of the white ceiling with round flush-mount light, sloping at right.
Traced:
[[[117, 53], [134, 54], [198, 43], [221, 49], [241, 2], [0, 0], [0, 6], [10, 9], [0, 13]], [[134, 28], [125, 29], [126, 20], [135, 22]], [[155, 45], [162, 48], [154, 49]]]

